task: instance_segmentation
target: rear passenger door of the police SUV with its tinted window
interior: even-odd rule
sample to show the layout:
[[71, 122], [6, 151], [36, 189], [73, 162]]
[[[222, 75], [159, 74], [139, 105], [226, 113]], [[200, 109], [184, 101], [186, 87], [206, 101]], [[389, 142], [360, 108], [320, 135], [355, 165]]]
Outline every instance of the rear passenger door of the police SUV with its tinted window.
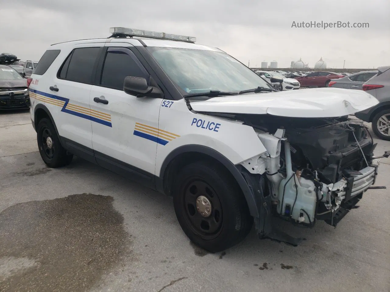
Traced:
[[75, 154], [94, 161], [91, 120], [105, 123], [104, 113], [92, 111], [89, 94], [96, 74], [99, 53], [104, 44], [78, 44], [66, 57], [57, 75], [48, 84], [49, 96], [62, 105], [57, 116], [58, 132], [66, 138], [67, 147]]

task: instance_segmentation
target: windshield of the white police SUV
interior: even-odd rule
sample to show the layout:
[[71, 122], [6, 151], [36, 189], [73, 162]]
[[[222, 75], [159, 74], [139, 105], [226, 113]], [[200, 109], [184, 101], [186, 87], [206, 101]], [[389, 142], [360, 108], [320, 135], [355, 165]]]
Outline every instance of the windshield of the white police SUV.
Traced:
[[255, 72], [229, 55], [198, 49], [147, 47], [184, 95], [213, 91], [239, 92], [271, 88]]

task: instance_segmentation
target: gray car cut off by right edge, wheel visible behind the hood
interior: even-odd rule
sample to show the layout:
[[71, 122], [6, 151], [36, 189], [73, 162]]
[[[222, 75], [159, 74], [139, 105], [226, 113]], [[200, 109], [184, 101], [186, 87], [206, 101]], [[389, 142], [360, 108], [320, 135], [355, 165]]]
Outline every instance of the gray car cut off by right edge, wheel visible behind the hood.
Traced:
[[378, 99], [379, 104], [356, 113], [355, 116], [371, 122], [375, 135], [390, 141], [390, 66], [379, 67], [378, 74], [365, 82], [362, 89]]

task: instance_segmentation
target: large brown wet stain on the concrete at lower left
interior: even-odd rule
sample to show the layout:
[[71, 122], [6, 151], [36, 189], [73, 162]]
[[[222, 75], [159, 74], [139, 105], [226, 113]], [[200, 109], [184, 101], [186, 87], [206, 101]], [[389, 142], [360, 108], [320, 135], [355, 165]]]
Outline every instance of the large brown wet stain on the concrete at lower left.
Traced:
[[[129, 253], [113, 198], [90, 193], [0, 213], [0, 291], [82, 292]], [[25, 267], [20, 268], [20, 262]]]

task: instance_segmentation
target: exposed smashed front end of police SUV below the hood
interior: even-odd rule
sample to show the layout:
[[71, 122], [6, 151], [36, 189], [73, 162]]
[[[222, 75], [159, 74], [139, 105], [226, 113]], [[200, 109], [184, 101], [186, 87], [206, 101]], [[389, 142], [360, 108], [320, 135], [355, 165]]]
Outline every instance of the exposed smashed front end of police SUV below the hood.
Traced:
[[240, 120], [254, 127], [267, 149], [240, 164], [252, 191], [261, 195], [255, 218], [261, 237], [297, 245], [271, 226], [272, 216], [308, 227], [324, 220], [335, 227], [375, 183], [376, 144], [360, 120], [270, 115]]

